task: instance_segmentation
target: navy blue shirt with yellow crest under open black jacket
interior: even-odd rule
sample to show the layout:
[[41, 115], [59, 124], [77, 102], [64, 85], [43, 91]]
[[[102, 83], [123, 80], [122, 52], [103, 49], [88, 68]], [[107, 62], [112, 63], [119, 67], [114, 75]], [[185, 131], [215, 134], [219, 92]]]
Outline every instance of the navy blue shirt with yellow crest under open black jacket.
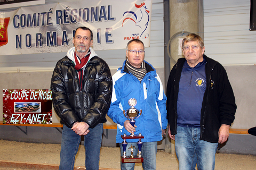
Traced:
[[206, 89], [206, 60], [190, 67], [184, 63], [179, 83], [177, 101], [177, 124], [183, 127], [200, 128], [201, 108]]

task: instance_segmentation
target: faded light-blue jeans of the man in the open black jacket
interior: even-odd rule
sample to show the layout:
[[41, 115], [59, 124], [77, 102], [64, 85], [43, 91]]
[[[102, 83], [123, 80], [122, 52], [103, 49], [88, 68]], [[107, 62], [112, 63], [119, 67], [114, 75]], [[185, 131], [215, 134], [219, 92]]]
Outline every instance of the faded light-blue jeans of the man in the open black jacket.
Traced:
[[177, 126], [175, 151], [179, 160], [179, 170], [194, 169], [195, 159], [198, 170], [214, 170], [218, 143], [206, 142], [199, 138], [199, 128]]

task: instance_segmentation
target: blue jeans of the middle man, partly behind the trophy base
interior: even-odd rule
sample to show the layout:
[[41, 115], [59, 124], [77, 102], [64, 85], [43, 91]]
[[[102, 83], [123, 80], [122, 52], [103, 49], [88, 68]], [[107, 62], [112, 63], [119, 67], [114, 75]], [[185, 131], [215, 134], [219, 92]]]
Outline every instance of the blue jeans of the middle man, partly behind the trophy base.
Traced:
[[[122, 144], [119, 143], [121, 156], [123, 156], [123, 147]], [[138, 146], [137, 143], [128, 143], [126, 147], [126, 156], [131, 156], [131, 150], [128, 148], [130, 146], [134, 146], [133, 149], [133, 156], [138, 154]], [[144, 162], [142, 163], [142, 167], [144, 170], [155, 170], [156, 169], [156, 152], [157, 152], [157, 142], [144, 142], [141, 147], [141, 155], [143, 157]], [[129, 170], [134, 169], [135, 163], [122, 163], [121, 162], [121, 169], [122, 170]]]

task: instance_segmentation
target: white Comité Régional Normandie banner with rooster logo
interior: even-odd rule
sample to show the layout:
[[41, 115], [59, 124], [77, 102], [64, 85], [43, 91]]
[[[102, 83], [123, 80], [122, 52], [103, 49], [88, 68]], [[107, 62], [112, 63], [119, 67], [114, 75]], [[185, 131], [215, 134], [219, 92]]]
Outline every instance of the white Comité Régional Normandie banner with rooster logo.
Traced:
[[93, 49], [123, 49], [138, 38], [150, 43], [152, 0], [73, 1], [0, 13], [0, 54], [67, 52], [77, 27], [93, 32]]

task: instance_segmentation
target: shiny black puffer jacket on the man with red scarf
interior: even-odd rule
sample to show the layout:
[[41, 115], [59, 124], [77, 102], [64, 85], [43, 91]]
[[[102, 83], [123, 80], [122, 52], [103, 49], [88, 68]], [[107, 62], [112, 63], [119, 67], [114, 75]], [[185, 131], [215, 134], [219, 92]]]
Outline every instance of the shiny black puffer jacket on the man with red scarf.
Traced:
[[112, 78], [109, 67], [98, 56], [90, 59], [79, 87], [75, 64], [67, 56], [58, 61], [51, 79], [52, 101], [61, 124], [71, 128], [75, 122], [86, 122], [90, 128], [106, 122]]

